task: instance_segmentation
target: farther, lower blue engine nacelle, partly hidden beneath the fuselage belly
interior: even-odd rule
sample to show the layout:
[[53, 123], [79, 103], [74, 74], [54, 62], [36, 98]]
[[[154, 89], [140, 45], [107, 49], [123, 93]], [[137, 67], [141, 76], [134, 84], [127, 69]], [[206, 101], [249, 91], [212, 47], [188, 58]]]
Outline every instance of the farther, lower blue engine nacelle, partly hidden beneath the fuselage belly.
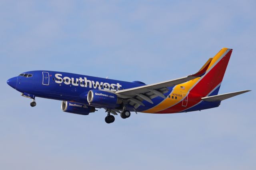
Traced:
[[81, 103], [69, 101], [62, 101], [61, 109], [64, 112], [74, 113], [78, 115], [89, 115], [89, 113], [95, 112], [95, 107], [90, 107]]

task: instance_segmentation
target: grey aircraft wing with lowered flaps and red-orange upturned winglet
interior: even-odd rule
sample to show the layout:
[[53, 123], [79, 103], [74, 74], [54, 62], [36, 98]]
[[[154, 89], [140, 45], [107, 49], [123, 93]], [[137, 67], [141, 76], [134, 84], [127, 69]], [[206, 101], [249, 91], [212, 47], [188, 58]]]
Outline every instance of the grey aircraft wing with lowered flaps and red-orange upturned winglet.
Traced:
[[142, 103], [142, 101], [144, 100], [153, 104], [151, 99], [155, 97], [159, 96], [164, 99], [166, 98], [164, 96], [164, 93], [167, 93], [169, 91], [167, 87], [185, 83], [187, 81], [190, 81], [192, 79], [195, 79], [197, 77], [201, 77], [202, 75], [204, 75], [211, 61], [212, 61], [212, 58], [208, 59], [208, 61], [203, 65], [203, 67], [197, 73], [188, 75], [187, 77], [181, 77], [178, 79], [162, 81], [162, 82], [154, 83], [150, 85], [143, 85], [140, 87], [134, 87], [130, 89], [116, 91], [116, 95], [118, 95], [118, 97], [122, 99], [127, 99], [128, 104], [134, 106], [135, 108], [139, 107], [140, 105], [144, 106], [144, 104]]

